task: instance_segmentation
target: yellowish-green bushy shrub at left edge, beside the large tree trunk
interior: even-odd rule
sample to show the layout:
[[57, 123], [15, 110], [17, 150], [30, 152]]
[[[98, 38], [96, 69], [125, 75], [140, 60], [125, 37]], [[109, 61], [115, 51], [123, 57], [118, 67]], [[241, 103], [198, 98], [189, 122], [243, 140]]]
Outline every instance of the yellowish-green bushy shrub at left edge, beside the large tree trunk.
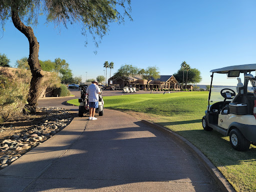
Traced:
[[13, 77], [8, 71], [0, 70], [0, 121], [7, 120], [11, 115], [22, 113], [27, 103], [29, 83], [24, 80], [24, 73]]

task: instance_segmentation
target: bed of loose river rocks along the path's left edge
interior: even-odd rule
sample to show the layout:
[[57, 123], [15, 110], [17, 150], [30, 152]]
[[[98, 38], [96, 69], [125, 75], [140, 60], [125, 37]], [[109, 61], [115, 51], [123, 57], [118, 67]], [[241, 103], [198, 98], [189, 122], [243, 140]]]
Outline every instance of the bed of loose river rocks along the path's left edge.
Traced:
[[[71, 111], [59, 107], [38, 107], [36, 112], [43, 115], [31, 119], [30, 124], [23, 128], [13, 128], [12, 124], [9, 127], [1, 126], [1, 132], [9, 130], [11, 133], [10, 130], [14, 129], [15, 133], [0, 138], [0, 169], [52, 137], [73, 119]], [[20, 122], [17, 120], [17, 123]]]

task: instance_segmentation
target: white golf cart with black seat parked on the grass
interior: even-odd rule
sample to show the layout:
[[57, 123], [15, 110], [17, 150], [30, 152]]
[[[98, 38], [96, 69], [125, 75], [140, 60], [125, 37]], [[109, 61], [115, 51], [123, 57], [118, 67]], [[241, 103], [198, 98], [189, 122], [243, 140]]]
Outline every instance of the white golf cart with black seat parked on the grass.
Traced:
[[[245, 151], [250, 143], [256, 143], [256, 78], [251, 74], [255, 70], [256, 64], [244, 64], [210, 71], [208, 106], [202, 117], [203, 129], [214, 129], [225, 136], [229, 135], [231, 146], [239, 151]], [[236, 87], [212, 87], [213, 74], [218, 75], [216, 73], [236, 78]]]

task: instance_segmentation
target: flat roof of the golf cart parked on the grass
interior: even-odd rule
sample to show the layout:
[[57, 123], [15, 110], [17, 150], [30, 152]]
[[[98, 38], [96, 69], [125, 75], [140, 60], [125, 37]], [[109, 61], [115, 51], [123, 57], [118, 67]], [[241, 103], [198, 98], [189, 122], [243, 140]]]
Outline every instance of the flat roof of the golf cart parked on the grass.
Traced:
[[241, 64], [241, 65], [234, 65], [234, 66], [225, 66], [222, 68], [213, 69], [210, 72], [228, 73], [228, 71], [230, 70], [239, 70], [240, 72], [244, 70], [246, 70], [247, 72], [254, 71], [256, 70], [256, 64]]

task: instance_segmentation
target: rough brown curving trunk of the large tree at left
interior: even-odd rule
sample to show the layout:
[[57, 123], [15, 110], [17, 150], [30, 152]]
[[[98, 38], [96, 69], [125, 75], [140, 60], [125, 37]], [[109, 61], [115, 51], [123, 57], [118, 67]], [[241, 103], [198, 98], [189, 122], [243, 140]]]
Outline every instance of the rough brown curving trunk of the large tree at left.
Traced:
[[17, 5], [11, 7], [11, 19], [14, 26], [27, 37], [29, 42], [29, 56], [27, 62], [32, 73], [32, 78], [27, 98], [27, 107], [31, 113], [34, 113], [37, 99], [40, 95], [40, 84], [43, 77], [43, 70], [41, 69], [38, 59], [39, 43], [34, 36], [33, 29], [30, 26], [24, 25], [20, 20]]

